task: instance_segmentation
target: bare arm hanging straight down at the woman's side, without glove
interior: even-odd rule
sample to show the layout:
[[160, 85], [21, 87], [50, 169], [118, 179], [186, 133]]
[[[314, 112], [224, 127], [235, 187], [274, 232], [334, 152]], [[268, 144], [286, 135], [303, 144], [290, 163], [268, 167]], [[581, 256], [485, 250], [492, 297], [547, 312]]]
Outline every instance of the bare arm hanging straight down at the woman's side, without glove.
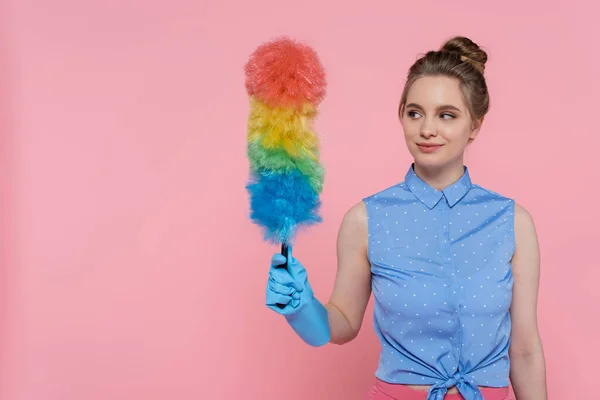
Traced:
[[546, 400], [546, 364], [537, 326], [540, 252], [531, 215], [515, 206], [510, 380], [517, 400]]

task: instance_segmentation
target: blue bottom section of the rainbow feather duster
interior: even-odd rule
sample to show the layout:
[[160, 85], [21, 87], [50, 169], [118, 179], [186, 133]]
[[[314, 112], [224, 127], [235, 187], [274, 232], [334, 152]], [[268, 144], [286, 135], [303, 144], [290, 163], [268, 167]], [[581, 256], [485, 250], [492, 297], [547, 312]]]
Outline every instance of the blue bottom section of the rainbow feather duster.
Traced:
[[250, 195], [250, 218], [261, 226], [268, 242], [291, 244], [301, 225], [322, 221], [319, 195], [298, 170], [252, 170], [246, 189]]

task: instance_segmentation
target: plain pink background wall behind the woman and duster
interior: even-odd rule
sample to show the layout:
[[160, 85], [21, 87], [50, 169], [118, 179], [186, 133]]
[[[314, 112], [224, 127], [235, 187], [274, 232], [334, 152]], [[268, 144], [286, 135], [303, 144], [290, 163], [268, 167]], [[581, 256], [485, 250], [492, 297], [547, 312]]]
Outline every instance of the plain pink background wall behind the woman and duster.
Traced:
[[410, 163], [407, 68], [454, 34], [487, 48], [467, 164], [536, 220], [551, 398], [596, 393], [598, 6], [364, 4], [4, 2], [0, 399], [362, 398], [372, 304], [355, 341], [319, 349], [264, 306], [277, 249], [247, 218], [242, 68], [280, 34], [328, 70], [325, 220], [295, 247], [323, 300], [343, 214]]

